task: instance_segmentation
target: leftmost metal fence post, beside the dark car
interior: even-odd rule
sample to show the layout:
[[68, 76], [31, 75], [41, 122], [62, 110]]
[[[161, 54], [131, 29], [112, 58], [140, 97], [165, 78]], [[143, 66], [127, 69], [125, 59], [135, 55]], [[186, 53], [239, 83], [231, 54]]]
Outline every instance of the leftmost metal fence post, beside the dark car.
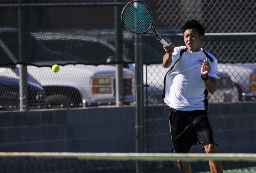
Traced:
[[[22, 4], [22, 0], [18, 1]], [[25, 40], [25, 24], [24, 24], [24, 9], [18, 8], [18, 49], [19, 49], [19, 60], [24, 60], [24, 40]], [[28, 74], [27, 66], [20, 64], [19, 69], [20, 76], [20, 111], [26, 111], [28, 106]]]

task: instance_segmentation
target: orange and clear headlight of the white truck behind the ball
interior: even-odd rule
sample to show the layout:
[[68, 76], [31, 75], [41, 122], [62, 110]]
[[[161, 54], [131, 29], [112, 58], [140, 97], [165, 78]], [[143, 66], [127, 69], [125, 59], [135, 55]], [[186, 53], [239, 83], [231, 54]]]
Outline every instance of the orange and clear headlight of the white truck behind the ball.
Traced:
[[92, 79], [92, 93], [112, 93], [110, 78], [94, 78]]

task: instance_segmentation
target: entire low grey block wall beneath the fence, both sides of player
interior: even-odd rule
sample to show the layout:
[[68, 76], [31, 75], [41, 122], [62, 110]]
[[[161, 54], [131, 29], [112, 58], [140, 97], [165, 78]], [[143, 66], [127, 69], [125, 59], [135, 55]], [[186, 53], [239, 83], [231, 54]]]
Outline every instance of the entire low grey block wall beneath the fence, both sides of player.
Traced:
[[[255, 105], [210, 105], [219, 152], [256, 153]], [[171, 152], [168, 110], [145, 107], [145, 151]], [[0, 152], [14, 151], [135, 152], [135, 107], [2, 112]]]

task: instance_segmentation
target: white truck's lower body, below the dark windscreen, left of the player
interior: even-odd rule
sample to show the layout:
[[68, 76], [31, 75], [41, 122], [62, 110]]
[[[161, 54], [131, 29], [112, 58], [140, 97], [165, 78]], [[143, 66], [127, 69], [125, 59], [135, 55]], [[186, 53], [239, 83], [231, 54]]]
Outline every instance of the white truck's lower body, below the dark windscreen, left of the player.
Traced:
[[[1, 68], [0, 75], [18, 79], [19, 66]], [[116, 68], [110, 65], [66, 65], [58, 73], [50, 67], [27, 66], [28, 81], [42, 85], [47, 108], [75, 108], [116, 104]], [[124, 68], [124, 104], [134, 103], [134, 73]]]

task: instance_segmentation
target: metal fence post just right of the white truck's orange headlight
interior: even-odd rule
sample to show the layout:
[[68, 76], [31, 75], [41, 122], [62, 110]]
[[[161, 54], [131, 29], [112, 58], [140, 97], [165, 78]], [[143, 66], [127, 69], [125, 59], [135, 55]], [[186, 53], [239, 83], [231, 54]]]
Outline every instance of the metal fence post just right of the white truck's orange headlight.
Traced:
[[[120, 0], [115, 0], [115, 2], [120, 2]], [[116, 106], [124, 106], [124, 76], [122, 62], [123, 57], [123, 30], [122, 23], [120, 21], [120, 14], [122, 7], [115, 6], [115, 46], [116, 46]]]

